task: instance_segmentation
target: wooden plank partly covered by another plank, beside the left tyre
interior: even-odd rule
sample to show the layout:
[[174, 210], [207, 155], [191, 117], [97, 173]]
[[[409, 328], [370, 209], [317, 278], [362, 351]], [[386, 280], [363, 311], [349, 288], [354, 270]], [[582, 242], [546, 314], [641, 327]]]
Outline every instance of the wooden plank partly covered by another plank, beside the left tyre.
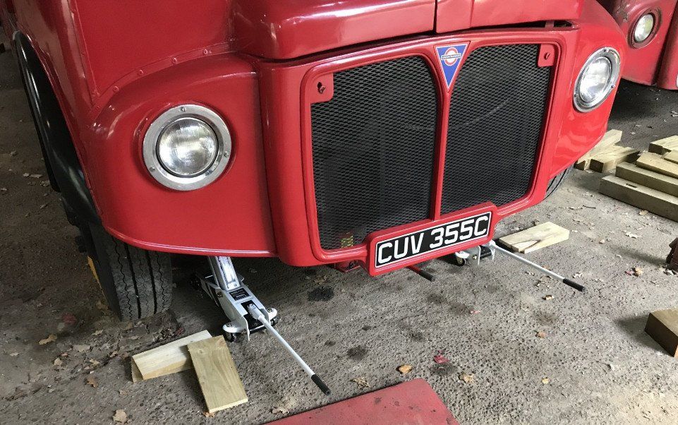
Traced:
[[190, 342], [205, 340], [211, 338], [207, 330], [203, 330], [188, 337], [169, 342], [154, 349], [132, 356], [134, 364], [143, 379], [157, 378], [158, 376], [169, 375], [179, 371], [190, 369], [190, 356], [186, 345]]

